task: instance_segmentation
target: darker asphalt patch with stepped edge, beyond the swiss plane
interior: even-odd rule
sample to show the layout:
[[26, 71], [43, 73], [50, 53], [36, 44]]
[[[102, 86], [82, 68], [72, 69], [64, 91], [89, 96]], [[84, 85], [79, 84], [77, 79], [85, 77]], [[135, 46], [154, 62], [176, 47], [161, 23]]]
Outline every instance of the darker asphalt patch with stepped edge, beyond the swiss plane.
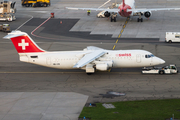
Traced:
[[[20, 28], [26, 31], [28, 27], [39, 26], [46, 21], [43, 18], [33, 18]], [[43, 24], [40, 30], [34, 32], [35, 35], [43, 37], [46, 40], [54, 40], [61, 42], [115, 42], [117, 38], [112, 38], [112, 35], [91, 35], [87, 31], [70, 31], [71, 28], [79, 21], [79, 19], [53, 19], [51, 18]], [[62, 23], [60, 23], [62, 22]], [[28, 32], [28, 31], [27, 31]], [[119, 38], [120, 42], [159, 42], [159, 38]]]

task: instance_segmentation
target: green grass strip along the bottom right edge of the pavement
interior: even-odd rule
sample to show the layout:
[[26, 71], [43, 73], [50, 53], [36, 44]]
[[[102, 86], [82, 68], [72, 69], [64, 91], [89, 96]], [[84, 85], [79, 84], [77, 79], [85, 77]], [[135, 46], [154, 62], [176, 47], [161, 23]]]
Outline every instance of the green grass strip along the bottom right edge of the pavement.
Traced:
[[[109, 103], [106, 103], [109, 104]], [[180, 119], [180, 99], [123, 101], [111, 103], [116, 108], [106, 109], [102, 103], [97, 107], [84, 107], [79, 117], [91, 120], [165, 120]]]

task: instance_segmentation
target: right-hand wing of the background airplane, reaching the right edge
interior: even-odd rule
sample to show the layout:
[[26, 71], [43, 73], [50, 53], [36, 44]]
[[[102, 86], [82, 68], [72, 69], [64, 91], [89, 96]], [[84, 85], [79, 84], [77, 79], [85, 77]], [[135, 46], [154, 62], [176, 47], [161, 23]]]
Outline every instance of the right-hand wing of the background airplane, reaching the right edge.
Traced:
[[153, 9], [128, 9], [127, 12], [146, 12], [146, 11], [159, 11], [159, 10], [180, 10], [180, 8], [153, 8]]

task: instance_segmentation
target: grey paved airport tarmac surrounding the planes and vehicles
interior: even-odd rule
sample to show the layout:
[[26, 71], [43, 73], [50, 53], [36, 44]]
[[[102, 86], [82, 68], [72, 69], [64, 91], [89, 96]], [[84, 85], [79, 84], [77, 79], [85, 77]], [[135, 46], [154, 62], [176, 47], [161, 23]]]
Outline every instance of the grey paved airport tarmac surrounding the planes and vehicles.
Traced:
[[[113, 46], [115, 50], [143, 49], [164, 59], [165, 65], [176, 64], [180, 68], [180, 44], [164, 42], [165, 32], [179, 31], [179, 11], [153, 12], [143, 23], [137, 23], [133, 17], [118, 38], [126, 18], [118, 16], [117, 22], [111, 23], [107, 18], [96, 18], [98, 12], [87, 16], [86, 11], [64, 8], [99, 7], [104, 2], [106, 0], [51, 0], [50, 7], [24, 8], [17, 1], [17, 20], [8, 23], [12, 30], [27, 32], [48, 51], [82, 50], [86, 46], [110, 50]], [[136, 0], [137, 8], [151, 6], [179, 7], [180, 1]], [[51, 12], [55, 13], [55, 18], [32, 35]], [[0, 37], [6, 34], [1, 32]], [[143, 75], [141, 68], [119, 68], [88, 76], [78, 69], [46, 68], [20, 62], [11, 41], [4, 39], [0, 41], [0, 56], [0, 120], [77, 120], [86, 103], [180, 98], [180, 74]], [[126, 95], [113, 99], [100, 95], [108, 91]]]

